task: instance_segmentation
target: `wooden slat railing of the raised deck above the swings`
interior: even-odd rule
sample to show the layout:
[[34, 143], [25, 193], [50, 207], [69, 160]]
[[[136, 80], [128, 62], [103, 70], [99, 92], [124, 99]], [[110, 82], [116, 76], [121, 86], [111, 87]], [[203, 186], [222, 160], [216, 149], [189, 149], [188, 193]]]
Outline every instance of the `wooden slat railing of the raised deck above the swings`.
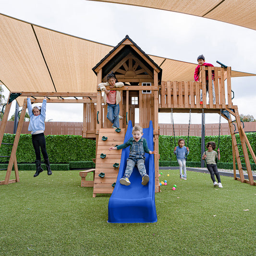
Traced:
[[[213, 104], [211, 75], [209, 76], [208, 97], [206, 92], [207, 73], [214, 73], [216, 104]], [[200, 104], [202, 92], [203, 104]], [[207, 100], [207, 98], [209, 100]], [[208, 103], [208, 104], [207, 104]], [[226, 104], [228, 103], [228, 104]], [[159, 92], [159, 109], [225, 109], [232, 108], [231, 67], [202, 66], [199, 82], [162, 81]]]

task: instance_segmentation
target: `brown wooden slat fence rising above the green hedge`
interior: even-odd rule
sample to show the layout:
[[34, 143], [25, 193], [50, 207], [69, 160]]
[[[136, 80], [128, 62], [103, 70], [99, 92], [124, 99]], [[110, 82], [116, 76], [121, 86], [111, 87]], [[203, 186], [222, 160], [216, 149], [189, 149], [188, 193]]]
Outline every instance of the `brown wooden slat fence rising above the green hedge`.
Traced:
[[[1, 124], [1, 122], [0, 122]], [[29, 122], [24, 122], [22, 127], [22, 134], [28, 134]], [[5, 129], [5, 133], [13, 133], [13, 121], [8, 121]], [[159, 123], [160, 135], [173, 135], [173, 127], [170, 123]], [[82, 135], [83, 122], [46, 122], [45, 123], [45, 135], [56, 134], [56, 135]], [[235, 129], [235, 126], [234, 126]], [[256, 122], [244, 122], [245, 132], [256, 132]], [[174, 124], [175, 136], [188, 134], [188, 124]], [[238, 132], [237, 128], [236, 131]], [[207, 123], [205, 126], [205, 134], [219, 135], [219, 123]], [[229, 135], [230, 130], [228, 123], [221, 123], [220, 135]], [[201, 124], [190, 124], [189, 129], [190, 136], [201, 136]]]

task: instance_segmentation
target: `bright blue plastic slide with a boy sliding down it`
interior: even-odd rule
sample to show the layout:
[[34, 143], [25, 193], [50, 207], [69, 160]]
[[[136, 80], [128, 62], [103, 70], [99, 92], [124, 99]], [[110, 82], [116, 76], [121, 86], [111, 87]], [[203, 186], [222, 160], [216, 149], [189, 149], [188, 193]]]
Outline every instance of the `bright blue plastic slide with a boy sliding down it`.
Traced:
[[[133, 125], [129, 121], [124, 142], [128, 141], [132, 135]], [[143, 129], [143, 137], [146, 138], [148, 148], [154, 150], [153, 124], [149, 123], [149, 128]], [[142, 185], [142, 178], [137, 169], [130, 177], [129, 186], [122, 185], [119, 180], [123, 177], [126, 169], [126, 160], [129, 157], [130, 147], [122, 149], [122, 157], [115, 188], [109, 201], [110, 223], [146, 223], [157, 222], [157, 211], [155, 205], [155, 164], [154, 155], [145, 153], [146, 173], [149, 175], [149, 182]]]

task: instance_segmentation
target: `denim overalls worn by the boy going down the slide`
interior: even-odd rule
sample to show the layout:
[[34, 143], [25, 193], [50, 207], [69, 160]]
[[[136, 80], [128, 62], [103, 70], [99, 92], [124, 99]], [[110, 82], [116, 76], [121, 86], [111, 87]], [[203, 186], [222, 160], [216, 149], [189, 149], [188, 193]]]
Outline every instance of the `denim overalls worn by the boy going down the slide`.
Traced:
[[146, 168], [145, 168], [146, 157], [144, 157], [145, 152], [143, 149], [143, 139], [144, 138], [141, 138], [140, 141], [138, 142], [133, 140], [133, 145], [130, 147], [130, 154], [129, 154], [129, 158], [127, 158], [127, 166], [124, 173], [124, 175], [127, 175], [128, 177], [131, 176], [135, 165], [137, 165], [137, 168], [141, 176], [144, 176], [146, 174]]

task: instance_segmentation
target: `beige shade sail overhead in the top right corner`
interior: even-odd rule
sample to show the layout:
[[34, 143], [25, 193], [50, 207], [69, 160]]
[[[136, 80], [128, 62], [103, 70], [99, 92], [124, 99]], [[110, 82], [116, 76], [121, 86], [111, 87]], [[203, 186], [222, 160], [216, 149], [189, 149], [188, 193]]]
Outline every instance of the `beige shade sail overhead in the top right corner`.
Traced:
[[256, 30], [255, 0], [96, 0], [181, 12]]

